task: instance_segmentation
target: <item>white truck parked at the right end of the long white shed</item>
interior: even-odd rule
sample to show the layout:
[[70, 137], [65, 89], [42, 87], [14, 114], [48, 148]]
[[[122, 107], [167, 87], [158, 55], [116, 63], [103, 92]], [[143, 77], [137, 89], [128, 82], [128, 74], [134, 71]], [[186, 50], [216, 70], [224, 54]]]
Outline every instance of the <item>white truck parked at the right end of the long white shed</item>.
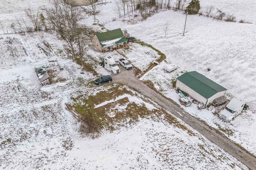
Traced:
[[244, 110], [248, 109], [248, 105], [246, 105], [244, 102], [233, 98], [230, 100], [230, 102], [227, 104], [224, 110], [219, 114], [220, 119], [230, 122], [234, 120], [236, 116], [238, 116], [240, 113], [244, 112]]

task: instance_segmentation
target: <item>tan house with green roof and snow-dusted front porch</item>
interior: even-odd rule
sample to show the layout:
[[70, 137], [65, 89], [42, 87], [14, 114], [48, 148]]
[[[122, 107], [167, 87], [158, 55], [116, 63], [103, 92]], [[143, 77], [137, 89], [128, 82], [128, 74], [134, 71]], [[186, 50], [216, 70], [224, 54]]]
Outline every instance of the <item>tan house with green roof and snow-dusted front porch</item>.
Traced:
[[100, 51], [108, 52], [128, 45], [126, 37], [120, 28], [97, 33], [92, 39], [92, 44]]

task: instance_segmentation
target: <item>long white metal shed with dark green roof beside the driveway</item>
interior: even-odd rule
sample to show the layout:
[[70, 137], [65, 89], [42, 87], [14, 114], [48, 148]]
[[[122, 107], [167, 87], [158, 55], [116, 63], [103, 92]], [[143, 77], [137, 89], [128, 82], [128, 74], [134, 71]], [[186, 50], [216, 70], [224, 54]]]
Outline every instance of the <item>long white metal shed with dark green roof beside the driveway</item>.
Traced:
[[180, 89], [194, 100], [208, 106], [214, 99], [224, 96], [226, 88], [196, 72], [186, 72], [176, 80], [176, 89]]

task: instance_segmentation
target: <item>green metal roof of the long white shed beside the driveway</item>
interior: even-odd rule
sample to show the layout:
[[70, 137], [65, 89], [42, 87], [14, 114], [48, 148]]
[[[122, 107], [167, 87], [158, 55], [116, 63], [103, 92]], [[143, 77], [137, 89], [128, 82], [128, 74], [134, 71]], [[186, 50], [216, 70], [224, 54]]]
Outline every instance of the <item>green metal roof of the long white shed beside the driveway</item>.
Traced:
[[218, 92], [227, 90], [206, 76], [196, 72], [186, 72], [177, 78], [189, 88], [208, 99]]

